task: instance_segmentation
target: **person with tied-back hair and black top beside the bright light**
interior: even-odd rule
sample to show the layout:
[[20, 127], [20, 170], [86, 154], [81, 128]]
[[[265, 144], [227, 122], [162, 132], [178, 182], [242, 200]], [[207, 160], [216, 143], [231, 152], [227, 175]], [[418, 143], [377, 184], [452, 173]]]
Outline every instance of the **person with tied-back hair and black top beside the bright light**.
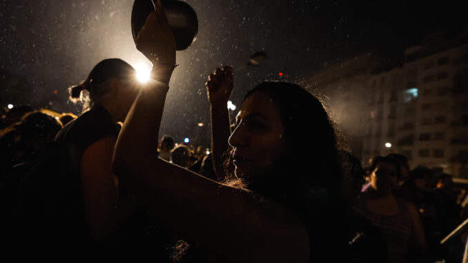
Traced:
[[82, 84], [70, 88], [70, 99], [83, 101], [84, 113], [60, 130], [55, 142], [63, 146], [68, 176], [76, 182], [70, 193], [81, 193], [70, 207], [77, 207], [75, 217], [83, 220], [74, 228], [77, 236], [70, 236], [84, 244], [104, 242], [135, 205], [121, 194], [110, 167], [117, 122], [124, 121], [139, 92], [135, 77], [135, 69], [125, 61], [104, 59]]

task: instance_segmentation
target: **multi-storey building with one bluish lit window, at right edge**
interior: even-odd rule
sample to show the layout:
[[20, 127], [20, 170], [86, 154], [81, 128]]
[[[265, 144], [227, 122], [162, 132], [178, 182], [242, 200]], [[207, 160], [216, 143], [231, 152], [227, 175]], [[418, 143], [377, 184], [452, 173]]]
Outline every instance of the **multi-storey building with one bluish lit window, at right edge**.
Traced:
[[401, 68], [373, 74], [362, 160], [402, 153], [411, 166], [468, 177], [468, 34], [407, 48]]

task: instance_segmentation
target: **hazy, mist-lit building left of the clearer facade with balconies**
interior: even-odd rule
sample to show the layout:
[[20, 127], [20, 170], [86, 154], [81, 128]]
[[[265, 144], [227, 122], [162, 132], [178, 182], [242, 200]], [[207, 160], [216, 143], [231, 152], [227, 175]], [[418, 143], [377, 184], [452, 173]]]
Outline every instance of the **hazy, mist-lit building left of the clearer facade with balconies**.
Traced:
[[344, 135], [340, 136], [340, 141], [357, 156], [362, 155], [364, 144], [367, 122], [365, 113], [368, 112], [369, 103], [368, 80], [382, 61], [386, 59], [373, 52], [366, 52], [333, 66], [326, 66], [308, 79], [338, 124], [338, 135]]

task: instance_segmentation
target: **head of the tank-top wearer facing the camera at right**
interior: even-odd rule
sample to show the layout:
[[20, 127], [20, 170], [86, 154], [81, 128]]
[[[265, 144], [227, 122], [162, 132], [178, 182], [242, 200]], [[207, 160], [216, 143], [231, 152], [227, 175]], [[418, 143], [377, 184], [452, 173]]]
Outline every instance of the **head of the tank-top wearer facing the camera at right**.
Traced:
[[383, 156], [373, 158], [371, 167], [371, 186], [380, 195], [389, 195], [398, 186], [400, 169], [395, 159]]

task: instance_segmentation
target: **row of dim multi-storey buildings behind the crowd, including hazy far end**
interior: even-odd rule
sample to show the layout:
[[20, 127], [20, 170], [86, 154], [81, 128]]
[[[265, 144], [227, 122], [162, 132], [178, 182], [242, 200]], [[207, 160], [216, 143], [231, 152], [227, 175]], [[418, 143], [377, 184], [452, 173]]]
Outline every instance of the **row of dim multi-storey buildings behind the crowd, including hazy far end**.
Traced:
[[367, 52], [308, 81], [364, 164], [401, 153], [412, 167], [468, 177], [468, 30], [431, 35], [404, 50], [404, 63], [395, 65]]

